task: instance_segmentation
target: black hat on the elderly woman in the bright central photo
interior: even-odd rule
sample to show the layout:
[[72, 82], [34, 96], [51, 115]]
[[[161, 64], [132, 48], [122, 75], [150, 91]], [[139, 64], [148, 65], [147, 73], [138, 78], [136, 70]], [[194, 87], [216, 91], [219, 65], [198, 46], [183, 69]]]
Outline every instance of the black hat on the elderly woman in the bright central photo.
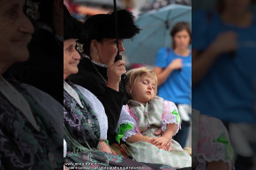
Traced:
[[83, 24], [76, 18], [73, 18], [64, 5], [64, 40], [79, 39], [85, 41], [87, 33], [83, 29]]

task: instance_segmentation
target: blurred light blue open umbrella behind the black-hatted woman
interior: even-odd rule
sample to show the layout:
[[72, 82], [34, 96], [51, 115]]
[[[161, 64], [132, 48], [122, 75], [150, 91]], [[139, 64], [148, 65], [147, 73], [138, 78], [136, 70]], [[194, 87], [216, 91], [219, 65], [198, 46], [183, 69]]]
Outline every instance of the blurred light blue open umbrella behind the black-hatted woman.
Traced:
[[136, 24], [142, 30], [133, 41], [124, 41], [124, 52], [129, 63], [154, 65], [157, 51], [170, 47], [169, 31], [179, 21], [191, 25], [191, 6], [169, 4], [160, 10], [148, 11], [139, 16]]

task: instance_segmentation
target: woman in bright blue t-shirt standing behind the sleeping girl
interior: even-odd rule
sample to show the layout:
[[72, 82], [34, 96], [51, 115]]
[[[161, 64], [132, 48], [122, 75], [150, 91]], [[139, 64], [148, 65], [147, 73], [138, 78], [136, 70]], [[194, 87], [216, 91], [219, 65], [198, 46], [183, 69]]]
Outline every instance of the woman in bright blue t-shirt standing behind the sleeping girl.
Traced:
[[158, 96], [174, 102], [182, 118], [181, 130], [174, 139], [184, 148], [191, 125], [192, 54], [191, 28], [178, 22], [170, 31], [171, 48], [161, 48], [156, 55], [154, 72], [158, 78]]

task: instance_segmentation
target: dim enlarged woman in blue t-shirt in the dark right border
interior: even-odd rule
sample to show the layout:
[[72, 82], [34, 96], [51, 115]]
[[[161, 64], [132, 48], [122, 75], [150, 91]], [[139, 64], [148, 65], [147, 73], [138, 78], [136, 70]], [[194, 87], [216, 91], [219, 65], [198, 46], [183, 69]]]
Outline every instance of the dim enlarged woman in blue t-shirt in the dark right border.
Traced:
[[192, 107], [225, 124], [237, 170], [253, 166], [256, 16], [249, 7], [254, 2], [217, 0], [215, 10], [192, 13]]

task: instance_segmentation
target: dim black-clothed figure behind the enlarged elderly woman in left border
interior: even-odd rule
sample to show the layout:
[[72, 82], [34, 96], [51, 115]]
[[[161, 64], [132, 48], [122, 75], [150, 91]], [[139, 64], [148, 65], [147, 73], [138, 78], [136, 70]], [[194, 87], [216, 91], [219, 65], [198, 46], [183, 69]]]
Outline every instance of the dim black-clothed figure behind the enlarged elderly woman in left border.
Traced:
[[35, 27], [28, 44], [30, 58], [8, 72], [63, 103], [63, 1], [27, 0], [26, 6]]

